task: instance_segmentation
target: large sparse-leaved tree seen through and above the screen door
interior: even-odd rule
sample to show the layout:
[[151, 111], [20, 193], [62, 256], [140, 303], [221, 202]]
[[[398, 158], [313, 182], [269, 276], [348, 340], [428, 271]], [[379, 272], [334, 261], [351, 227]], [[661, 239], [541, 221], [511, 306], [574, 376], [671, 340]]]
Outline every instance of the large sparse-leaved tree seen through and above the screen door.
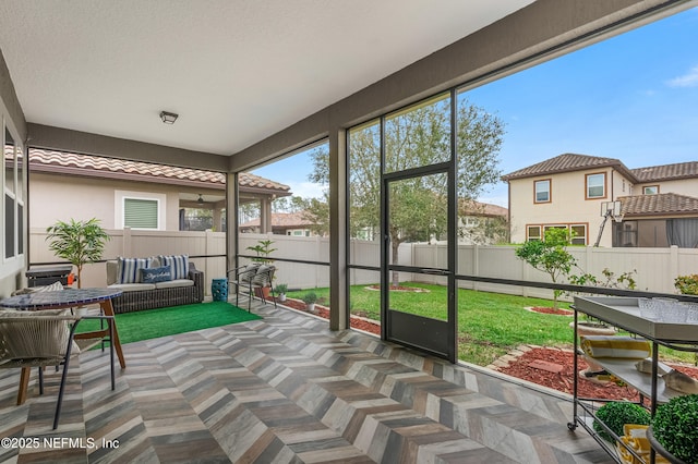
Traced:
[[[400, 171], [450, 159], [450, 105], [432, 100], [387, 118], [385, 123], [385, 170]], [[484, 109], [466, 100], [458, 102], [457, 188], [460, 199], [477, 198], [489, 184], [498, 181], [498, 152], [504, 124]], [[312, 152], [314, 169], [309, 180], [328, 184], [329, 154]], [[380, 229], [381, 137], [377, 124], [354, 130], [349, 136], [350, 233], [359, 236]], [[405, 242], [438, 239], [446, 231], [447, 185], [445, 175], [428, 175], [393, 183], [389, 195], [388, 236], [393, 262]], [[321, 212], [321, 211], [317, 211]], [[393, 274], [397, 284], [397, 274]]]

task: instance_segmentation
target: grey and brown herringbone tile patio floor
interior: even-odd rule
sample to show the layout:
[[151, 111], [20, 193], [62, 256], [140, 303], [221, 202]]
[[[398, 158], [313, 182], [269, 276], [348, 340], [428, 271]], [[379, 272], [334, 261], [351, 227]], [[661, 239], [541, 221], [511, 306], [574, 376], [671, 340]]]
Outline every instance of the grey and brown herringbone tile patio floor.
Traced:
[[2, 373], [0, 437], [24, 445], [0, 462], [611, 462], [567, 430], [568, 399], [254, 310], [264, 319], [124, 345], [116, 391], [108, 357], [82, 354], [55, 431], [58, 376], [16, 406], [19, 373]]

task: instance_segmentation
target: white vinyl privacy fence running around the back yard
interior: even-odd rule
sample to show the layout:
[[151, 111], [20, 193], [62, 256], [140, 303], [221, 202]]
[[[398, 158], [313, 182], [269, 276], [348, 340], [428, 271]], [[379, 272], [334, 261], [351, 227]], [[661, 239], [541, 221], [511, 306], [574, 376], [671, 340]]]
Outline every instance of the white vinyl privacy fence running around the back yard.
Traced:
[[[107, 243], [106, 259], [118, 256], [145, 257], [159, 254], [188, 254], [204, 256], [192, 258], [196, 268], [205, 272], [206, 292], [209, 293], [212, 279], [226, 276], [226, 234], [222, 232], [154, 232], [109, 230], [112, 240]], [[56, 262], [48, 249], [44, 230], [32, 230], [32, 265]], [[306, 261], [329, 262], [329, 239], [300, 237], [288, 235], [241, 234], [240, 254], [253, 255], [248, 246], [260, 240], [272, 240], [274, 257]], [[550, 282], [547, 274], [537, 271], [515, 256], [515, 246], [460, 245], [458, 247], [458, 273], [465, 276], [491, 277], [512, 280]], [[698, 249], [693, 248], [594, 248], [569, 247], [577, 258], [579, 268], [575, 273], [590, 272], [602, 278], [603, 269], [616, 276], [634, 271], [638, 290], [675, 293], [674, 279], [677, 276], [698, 273]], [[380, 265], [377, 242], [352, 241], [349, 261], [363, 266]], [[402, 244], [398, 252], [399, 264], [420, 267], [445, 267], [446, 246], [443, 244]], [[242, 264], [248, 259], [242, 259]], [[291, 289], [311, 289], [329, 285], [329, 266], [276, 261], [277, 283], [286, 283]], [[376, 283], [378, 273], [365, 270], [350, 271], [352, 284]], [[400, 273], [400, 281], [419, 279], [426, 283], [443, 283], [443, 278]], [[441, 279], [441, 280], [440, 280]], [[106, 284], [105, 264], [86, 266], [83, 271], [83, 286]], [[510, 293], [528, 296], [552, 297], [552, 291], [483, 282], [460, 281], [461, 288], [489, 292]]]

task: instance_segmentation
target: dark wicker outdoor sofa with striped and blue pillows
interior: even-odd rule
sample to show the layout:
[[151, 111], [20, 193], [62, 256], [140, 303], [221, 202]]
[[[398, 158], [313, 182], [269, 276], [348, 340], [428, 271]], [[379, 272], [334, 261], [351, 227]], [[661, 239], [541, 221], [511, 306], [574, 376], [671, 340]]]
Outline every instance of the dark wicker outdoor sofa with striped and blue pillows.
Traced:
[[186, 255], [109, 260], [107, 285], [123, 291], [111, 301], [116, 314], [204, 301], [204, 273]]

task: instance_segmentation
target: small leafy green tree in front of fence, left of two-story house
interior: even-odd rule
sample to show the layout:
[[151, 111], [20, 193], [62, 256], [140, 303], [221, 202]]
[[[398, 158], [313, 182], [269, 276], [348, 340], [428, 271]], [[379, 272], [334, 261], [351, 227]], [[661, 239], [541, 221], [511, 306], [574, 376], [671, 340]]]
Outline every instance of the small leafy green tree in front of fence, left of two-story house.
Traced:
[[[571, 235], [567, 229], [551, 228], [545, 230], [544, 240], [526, 242], [516, 248], [516, 256], [533, 268], [550, 276], [553, 283], [566, 277], [577, 265], [577, 259], [567, 252]], [[557, 308], [557, 298], [564, 292], [553, 291], [553, 307]]]

